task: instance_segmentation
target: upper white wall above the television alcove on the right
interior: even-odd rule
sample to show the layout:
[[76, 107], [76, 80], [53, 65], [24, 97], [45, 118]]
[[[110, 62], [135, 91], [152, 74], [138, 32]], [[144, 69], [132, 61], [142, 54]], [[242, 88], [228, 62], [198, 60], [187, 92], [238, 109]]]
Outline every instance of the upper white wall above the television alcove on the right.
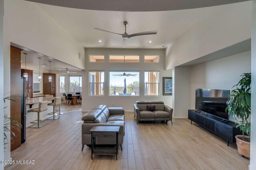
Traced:
[[250, 39], [251, 3], [215, 6], [166, 48], [165, 68], [173, 68]]

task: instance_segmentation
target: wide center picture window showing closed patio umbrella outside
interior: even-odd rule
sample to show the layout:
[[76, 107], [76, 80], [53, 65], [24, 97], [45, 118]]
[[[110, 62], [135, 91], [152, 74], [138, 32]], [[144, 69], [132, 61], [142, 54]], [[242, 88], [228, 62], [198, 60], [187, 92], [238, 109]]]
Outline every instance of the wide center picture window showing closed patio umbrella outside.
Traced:
[[110, 71], [109, 72], [110, 96], [139, 96], [140, 72], [139, 71]]

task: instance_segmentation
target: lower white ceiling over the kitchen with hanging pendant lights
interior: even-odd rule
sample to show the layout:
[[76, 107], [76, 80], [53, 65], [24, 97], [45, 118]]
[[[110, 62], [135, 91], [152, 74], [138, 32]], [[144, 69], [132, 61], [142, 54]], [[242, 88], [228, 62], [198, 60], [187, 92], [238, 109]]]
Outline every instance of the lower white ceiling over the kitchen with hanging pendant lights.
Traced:
[[38, 57], [42, 58], [41, 59], [41, 69], [42, 70], [50, 70], [50, 63], [51, 61], [51, 70], [55, 71], [55, 73], [61, 73], [66, 71], [66, 68], [69, 69], [69, 71], [81, 71], [78, 68], [75, 68], [73, 66], [70, 66], [69, 64], [62, 63], [60, 61], [56, 61], [53, 59], [49, 59], [48, 57], [38, 55], [36, 53], [30, 52], [30, 51], [21, 51], [21, 66], [22, 68], [25, 68], [25, 55], [24, 53], [28, 53], [26, 57], [26, 66], [30, 68], [38, 68], [39, 69], [39, 59]]

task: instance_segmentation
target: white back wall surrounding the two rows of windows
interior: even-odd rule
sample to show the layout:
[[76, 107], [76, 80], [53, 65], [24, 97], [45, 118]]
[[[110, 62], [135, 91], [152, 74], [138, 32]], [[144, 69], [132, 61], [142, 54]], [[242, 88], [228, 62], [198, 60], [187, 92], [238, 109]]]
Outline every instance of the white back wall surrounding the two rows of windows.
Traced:
[[[89, 55], [105, 55], [104, 63], [90, 63]], [[109, 55], [140, 55], [140, 63], [109, 63]], [[160, 63], [144, 63], [144, 55], [160, 55]], [[133, 110], [137, 100], [162, 100], [172, 107], [172, 96], [162, 95], [162, 77], [172, 77], [172, 70], [164, 70], [164, 49], [85, 49], [86, 70], [82, 71], [82, 110], [90, 110], [99, 104], [108, 107], [121, 106], [125, 110]], [[89, 70], [105, 70], [104, 96], [89, 96]], [[140, 70], [140, 96], [109, 96], [109, 70]], [[144, 96], [144, 70], [160, 71], [160, 96]]]

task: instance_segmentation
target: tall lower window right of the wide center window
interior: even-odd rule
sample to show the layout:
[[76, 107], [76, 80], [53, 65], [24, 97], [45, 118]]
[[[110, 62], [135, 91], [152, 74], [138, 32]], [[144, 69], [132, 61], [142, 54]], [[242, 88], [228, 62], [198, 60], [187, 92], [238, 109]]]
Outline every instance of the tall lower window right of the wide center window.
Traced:
[[159, 71], [145, 71], [145, 96], [159, 96]]

